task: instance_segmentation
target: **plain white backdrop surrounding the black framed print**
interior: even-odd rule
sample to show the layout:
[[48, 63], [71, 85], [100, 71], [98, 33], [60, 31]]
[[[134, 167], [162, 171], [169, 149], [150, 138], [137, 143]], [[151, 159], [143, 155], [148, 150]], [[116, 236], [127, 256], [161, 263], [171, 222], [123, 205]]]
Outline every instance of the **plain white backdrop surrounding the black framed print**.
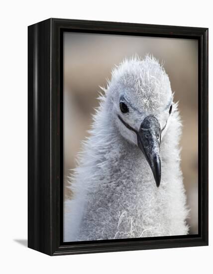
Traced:
[[[1, 273], [210, 273], [210, 246], [48, 257], [26, 248], [27, 239], [27, 25], [49, 17], [210, 28], [211, 1], [37, 0], [3, 1], [0, 8], [0, 272]], [[213, 96], [210, 92], [210, 125]], [[212, 137], [210, 126], [210, 138]], [[210, 141], [210, 166], [213, 146]]]

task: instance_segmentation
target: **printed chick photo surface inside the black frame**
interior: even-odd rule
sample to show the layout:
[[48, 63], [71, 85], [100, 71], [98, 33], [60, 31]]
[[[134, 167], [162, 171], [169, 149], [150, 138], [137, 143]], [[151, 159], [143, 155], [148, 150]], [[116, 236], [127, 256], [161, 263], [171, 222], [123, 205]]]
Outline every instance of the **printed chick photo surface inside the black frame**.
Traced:
[[64, 32], [64, 242], [198, 234], [198, 41]]

